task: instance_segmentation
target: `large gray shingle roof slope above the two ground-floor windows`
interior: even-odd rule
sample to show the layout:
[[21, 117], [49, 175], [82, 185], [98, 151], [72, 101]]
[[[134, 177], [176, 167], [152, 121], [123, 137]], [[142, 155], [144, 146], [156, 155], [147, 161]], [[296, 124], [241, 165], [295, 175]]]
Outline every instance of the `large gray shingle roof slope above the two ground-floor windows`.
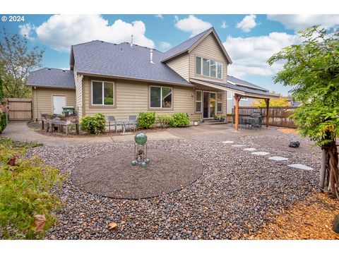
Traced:
[[150, 48], [127, 42], [113, 44], [95, 40], [72, 46], [75, 71], [122, 78], [152, 80], [162, 83], [191, 85], [181, 75], [161, 63], [164, 53], [153, 49], [150, 63]]

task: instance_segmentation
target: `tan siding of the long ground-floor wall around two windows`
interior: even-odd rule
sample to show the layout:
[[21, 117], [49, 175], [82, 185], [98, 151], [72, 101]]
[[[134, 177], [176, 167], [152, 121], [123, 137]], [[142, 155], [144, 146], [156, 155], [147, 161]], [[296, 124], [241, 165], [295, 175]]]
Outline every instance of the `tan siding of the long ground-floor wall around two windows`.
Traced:
[[[173, 87], [173, 108], [149, 109], [148, 92], [150, 84], [131, 80], [112, 80], [115, 85], [115, 108], [112, 107], [91, 107], [90, 80], [100, 80], [100, 78], [83, 79], [85, 114], [102, 113], [105, 116], [116, 116], [117, 119], [126, 119], [129, 115], [137, 115], [141, 111], [155, 111], [157, 114], [188, 113], [194, 114], [194, 89], [193, 87]], [[107, 80], [107, 79], [105, 79]], [[161, 86], [161, 85], [159, 85]], [[200, 119], [200, 117], [198, 117]]]

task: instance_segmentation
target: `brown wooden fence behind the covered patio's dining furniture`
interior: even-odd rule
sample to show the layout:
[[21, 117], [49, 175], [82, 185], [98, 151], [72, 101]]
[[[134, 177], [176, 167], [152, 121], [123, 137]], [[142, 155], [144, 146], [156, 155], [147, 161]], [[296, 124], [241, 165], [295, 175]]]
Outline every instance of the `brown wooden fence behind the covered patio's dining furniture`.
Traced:
[[[289, 116], [293, 114], [297, 107], [270, 107], [268, 125], [287, 128], [296, 128], [294, 119]], [[232, 109], [234, 115], [235, 107]], [[259, 107], [239, 107], [239, 116], [251, 116], [254, 112], [259, 112], [263, 116], [263, 123], [266, 123], [266, 108]], [[231, 116], [231, 117], [232, 117]], [[230, 120], [230, 119], [227, 119]], [[232, 121], [232, 120], [230, 120]]]

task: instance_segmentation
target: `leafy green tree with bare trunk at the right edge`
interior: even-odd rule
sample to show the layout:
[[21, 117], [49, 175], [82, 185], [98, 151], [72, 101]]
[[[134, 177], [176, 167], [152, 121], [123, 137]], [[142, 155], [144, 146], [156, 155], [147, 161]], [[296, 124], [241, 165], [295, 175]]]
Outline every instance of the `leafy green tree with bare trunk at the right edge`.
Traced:
[[[283, 61], [283, 70], [275, 83], [292, 86], [292, 97], [302, 102], [295, 110], [301, 134], [314, 140], [326, 151], [328, 190], [339, 199], [339, 32], [328, 32], [319, 26], [299, 32], [301, 44], [286, 47], [268, 59], [270, 66]], [[321, 185], [321, 181], [319, 183]]]

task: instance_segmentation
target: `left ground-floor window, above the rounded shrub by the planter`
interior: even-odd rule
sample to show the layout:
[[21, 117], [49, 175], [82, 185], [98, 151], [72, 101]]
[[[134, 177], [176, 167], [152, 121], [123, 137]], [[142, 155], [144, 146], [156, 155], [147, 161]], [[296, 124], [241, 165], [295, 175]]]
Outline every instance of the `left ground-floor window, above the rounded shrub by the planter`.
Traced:
[[114, 82], [93, 80], [92, 105], [114, 106]]

